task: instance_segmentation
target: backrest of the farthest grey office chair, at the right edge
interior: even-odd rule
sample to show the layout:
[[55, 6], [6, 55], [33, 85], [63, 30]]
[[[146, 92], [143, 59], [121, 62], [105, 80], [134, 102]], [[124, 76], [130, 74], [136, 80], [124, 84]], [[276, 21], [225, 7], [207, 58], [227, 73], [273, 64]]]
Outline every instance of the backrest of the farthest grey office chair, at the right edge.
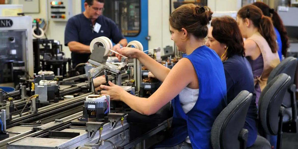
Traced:
[[[291, 77], [291, 84], [294, 84], [294, 76], [297, 67], [297, 58], [288, 57], [280, 62], [270, 73], [267, 83], [270, 82], [274, 77], [281, 73], [285, 73]], [[291, 85], [290, 84], [290, 85]], [[291, 107], [291, 91], [287, 90], [285, 96], [283, 97], [283, 106]]]

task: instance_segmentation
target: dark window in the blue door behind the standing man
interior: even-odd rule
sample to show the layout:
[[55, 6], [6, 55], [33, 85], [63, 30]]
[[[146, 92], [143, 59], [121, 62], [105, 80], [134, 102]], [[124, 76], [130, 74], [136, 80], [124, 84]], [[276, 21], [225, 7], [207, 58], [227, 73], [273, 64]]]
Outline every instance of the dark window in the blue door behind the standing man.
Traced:
[[103, 15], [111, 18], [124, 36], [135, 37], [141, 31], [140, 0], [105, 1]]

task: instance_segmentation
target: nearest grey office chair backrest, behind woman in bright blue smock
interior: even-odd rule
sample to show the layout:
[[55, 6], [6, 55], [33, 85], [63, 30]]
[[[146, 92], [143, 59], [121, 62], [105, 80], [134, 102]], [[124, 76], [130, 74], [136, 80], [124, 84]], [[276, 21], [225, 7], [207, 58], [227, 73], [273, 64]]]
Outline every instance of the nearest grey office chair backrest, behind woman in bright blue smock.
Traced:
[[238, 135], [242, 130], [252, 93], [241, 91], [215, 119], [211, 129], [213, 149], [240, 149]]

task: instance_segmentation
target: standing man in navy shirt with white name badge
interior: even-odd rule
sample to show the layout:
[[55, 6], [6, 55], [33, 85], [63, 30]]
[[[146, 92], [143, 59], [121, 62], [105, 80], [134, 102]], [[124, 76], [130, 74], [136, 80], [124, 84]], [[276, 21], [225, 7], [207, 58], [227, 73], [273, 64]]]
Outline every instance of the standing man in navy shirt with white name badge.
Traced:
[[85, 11], [69, 18], [64, 33], [64, 44], [72, 52], [72, 67], [86, 63], [91, 54], [89, 45], [94, 38], [105, 36], [117, 43], [113, 50], [127, 45], [116, 23], [102, 15], [104, 0], [85, 0]]

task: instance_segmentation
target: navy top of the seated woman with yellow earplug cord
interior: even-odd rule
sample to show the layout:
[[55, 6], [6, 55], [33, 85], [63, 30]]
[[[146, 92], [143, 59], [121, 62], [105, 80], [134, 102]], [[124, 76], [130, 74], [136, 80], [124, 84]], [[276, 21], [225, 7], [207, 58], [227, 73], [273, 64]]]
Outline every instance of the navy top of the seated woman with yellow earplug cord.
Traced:
[[[230, 103], [240, 91], [254, 93], [254, 78], [252, 68], [245, 57], [234, 55], [223, 62], [226, 75], [227, 102]], [[247, 111], [244, 128], [248, 130], [247, 147], [257, 139], [257, 105], [255, 95]]]

